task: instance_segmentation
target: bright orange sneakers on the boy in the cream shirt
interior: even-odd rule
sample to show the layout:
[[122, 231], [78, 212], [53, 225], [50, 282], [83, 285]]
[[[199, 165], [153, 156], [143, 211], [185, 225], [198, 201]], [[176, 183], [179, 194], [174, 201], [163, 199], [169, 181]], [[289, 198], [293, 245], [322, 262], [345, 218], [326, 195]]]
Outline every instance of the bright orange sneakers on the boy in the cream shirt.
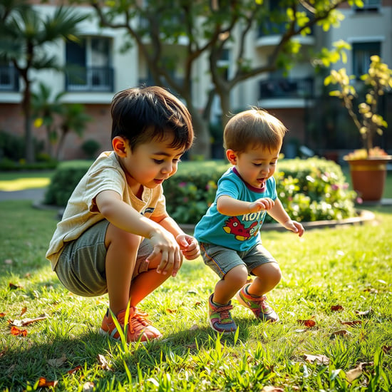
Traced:
[[[120, 326], [124, 328], [124, 324], [127, 324], [126, 338], [128, 343], [139, 340], [145, 342], [162, 337], [160, 331], [150, 325], [151, 322], [147, 319], [147, 316], [148, 314], [131, 306], [129, 309], [128, 323], [125, 323], [125, 310], [118, 312], [117, 320]], [[113, 339], [120, 340], [120, 334], [118, 333], [114, 321], [112, 319], [109, 321], [109, 309], [103, 317], [102, 324], [100, 326], [100, 334], [109, 335]]]

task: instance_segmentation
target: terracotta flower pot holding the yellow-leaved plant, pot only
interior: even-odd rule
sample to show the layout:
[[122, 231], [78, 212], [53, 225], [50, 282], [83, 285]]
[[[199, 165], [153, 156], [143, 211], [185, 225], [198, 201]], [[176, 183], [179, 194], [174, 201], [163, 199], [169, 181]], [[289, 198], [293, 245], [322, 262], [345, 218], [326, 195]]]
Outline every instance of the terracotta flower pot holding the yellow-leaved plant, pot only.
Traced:
[[381, 200], [386, 180], [386, 164], [392, 155], [347, 160], [354, 190], [363, 201]]

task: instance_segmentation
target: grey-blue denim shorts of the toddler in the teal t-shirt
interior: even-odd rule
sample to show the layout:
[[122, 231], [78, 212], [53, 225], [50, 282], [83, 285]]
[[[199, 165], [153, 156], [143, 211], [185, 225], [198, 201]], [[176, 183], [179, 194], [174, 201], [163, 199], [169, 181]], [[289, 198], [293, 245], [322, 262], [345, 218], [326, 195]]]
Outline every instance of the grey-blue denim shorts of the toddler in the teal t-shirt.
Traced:
[[257, 244], [247, 251], [237, 251], [220, 245], [200, 242], [200, 250], [205, 264], [222, 279], [230, 269], [238, 265], [247, 267], [249, 274], [265, 263], [277, 263], [271, 253], [262, 244]]

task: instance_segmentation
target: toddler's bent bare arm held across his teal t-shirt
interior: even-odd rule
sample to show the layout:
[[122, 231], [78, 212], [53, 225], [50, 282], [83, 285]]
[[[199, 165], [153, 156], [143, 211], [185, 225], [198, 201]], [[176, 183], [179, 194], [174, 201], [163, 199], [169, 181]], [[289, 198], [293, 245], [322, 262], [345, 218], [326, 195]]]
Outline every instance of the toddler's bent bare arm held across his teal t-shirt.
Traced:
[[273, 206], [274, 200], [269, 197], [264, 197], [256, 200], [255, 202], [245, 202], [227, 195], [222, 195], [217, 200], [217, 210], [220, 214], [228, 216], [244, 215], [249, 214], [250, 212], [270, 210]]

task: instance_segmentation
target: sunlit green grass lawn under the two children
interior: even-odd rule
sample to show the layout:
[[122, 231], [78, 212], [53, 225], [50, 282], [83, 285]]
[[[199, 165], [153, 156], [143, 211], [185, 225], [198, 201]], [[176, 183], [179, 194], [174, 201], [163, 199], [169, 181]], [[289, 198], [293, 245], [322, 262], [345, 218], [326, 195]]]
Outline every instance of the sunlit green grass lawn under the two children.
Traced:
[[[269, 294], [279, 323], [260, 324], [234, 302], [237, 336], [213, 333], [207, 298], [217, 278], [197, 259], [141, 304], [164, 339], [123, 346], [98, 334], [107, 297], [74, 296], [51, 272], [44, 254], [55, 212], [0, 202], [0, 390], [41, 391], [43, 377], [58, 381], [56, 391], [391, 391], [392, 207], [373, 211], [375, 225], [309, 230], [301, 239], [263, 233], [284, 274]], [[25, 337], [10, 334], [8, 320], [42, 314], [23, 327]], [[307, 319], [316, 325], [298, 321]]]

